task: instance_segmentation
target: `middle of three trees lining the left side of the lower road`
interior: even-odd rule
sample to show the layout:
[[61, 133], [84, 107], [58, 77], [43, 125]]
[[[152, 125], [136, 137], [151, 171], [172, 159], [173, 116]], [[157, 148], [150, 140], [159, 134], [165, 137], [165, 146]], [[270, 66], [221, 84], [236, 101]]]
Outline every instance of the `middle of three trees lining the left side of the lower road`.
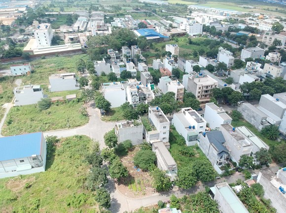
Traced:
[[108, 182], [107, 170], [100, 167], [92, 167], [86, 178], [86, 187], [90, 191], [104, 187]]

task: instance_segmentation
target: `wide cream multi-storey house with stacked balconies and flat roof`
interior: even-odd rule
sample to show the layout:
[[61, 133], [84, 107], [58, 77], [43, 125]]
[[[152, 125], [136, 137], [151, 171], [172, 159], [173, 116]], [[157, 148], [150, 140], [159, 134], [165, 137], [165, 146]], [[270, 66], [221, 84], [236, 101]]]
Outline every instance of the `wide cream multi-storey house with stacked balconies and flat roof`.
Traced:
[[217, 87], [218, 82], [206, 74], [190, 74], [183, 76], [183, 85], [187, 92], [193, 93], [200, 102], [209, 102], [212, 89]]

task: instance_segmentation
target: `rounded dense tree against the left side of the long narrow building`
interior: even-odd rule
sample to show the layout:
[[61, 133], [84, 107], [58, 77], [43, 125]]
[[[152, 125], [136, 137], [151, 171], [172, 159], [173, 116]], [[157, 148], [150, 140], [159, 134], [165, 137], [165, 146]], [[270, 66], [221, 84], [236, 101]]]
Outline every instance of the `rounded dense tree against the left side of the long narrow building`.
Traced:
[[146, 171], [156, 161], [156, 154], [151, 150], [139, 150], [134, 156], [134, 165]]

